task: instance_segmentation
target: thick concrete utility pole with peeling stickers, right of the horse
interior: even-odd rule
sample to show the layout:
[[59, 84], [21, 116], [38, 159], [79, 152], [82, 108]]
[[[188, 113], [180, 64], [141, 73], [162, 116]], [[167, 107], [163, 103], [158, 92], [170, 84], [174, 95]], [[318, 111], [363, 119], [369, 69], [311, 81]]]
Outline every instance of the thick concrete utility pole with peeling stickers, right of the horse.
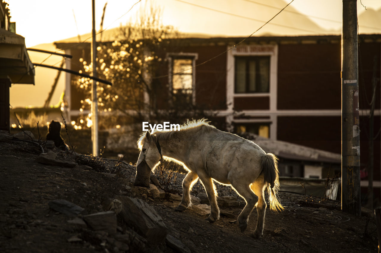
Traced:
[[341, 35], [341, 209], [361, 215], [357, 0], [343, 0]]

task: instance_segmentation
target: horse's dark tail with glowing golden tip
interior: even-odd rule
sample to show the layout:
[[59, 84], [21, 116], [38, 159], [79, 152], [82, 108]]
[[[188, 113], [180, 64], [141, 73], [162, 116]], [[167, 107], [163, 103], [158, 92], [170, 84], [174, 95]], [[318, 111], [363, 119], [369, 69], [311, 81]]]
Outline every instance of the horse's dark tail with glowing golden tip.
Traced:
[[272, 153], [262, 157], [262, 169], [267, 192], [269, 193], [270, 209], [282, 211], [284, 208], [277, 197], [279, 190], [278, 158]]

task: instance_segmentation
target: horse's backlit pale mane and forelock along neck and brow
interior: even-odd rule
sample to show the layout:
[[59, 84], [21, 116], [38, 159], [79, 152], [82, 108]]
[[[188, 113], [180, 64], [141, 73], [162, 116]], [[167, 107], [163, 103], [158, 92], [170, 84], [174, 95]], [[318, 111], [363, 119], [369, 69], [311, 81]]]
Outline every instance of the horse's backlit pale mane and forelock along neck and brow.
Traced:
[[[180, 131], [201, 131], [201, 133], [208, 132], [212, 129], [215, 129], [216, 127], [209, 124], [210, 121], [207, 121], [207, 119], [199, 119], [199, 120], [189, 120], [187, 119], [187, 122], [182, 124], [180, 126]], [[157, 131], [154, 130], [152, 133], [154, 136], [156, 136], [158, 141], [166, 141], [170, 139], [175, 132], [179, 131]], [[138, 139], [138, 149], [141, 150], [143, 147], [143, 141], [146, 137], [146, 132], [143, 132], [139, 139]]]

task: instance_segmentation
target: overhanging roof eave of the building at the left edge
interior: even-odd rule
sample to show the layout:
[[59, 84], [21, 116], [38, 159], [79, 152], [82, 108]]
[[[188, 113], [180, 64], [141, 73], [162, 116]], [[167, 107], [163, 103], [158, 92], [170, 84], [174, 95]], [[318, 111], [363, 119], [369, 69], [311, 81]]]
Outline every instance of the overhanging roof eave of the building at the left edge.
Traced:
[[0, 76], [8, 76], [14, 84], [34, 84], [34, 74], [25, 38], [0, 28]]

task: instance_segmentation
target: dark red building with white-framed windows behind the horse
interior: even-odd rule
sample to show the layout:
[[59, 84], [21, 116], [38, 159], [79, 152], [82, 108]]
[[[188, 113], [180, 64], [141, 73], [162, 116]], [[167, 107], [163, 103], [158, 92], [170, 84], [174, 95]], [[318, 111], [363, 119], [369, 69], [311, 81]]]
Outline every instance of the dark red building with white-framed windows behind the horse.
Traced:
[[[156, 94], [160, 97], [155, 102], [158, 109], [168, 109], [173, 96], [184, 93], [189, 103], [213, 111], [229, 131], [249, 132], [270, 141], [341, 153], [341, 36], [183, 38], [179, 41], [181, 46], [175, 50], [160, 52], [165, 61], [160, 68], [161, 77], [155, 82], [161, 85], [160, 93]], [[73, 63], [78, 63], [80, 58], [90, 61], [90, 43], [58, 42], [56, 46], [67, 48], [65, 51], [73, 55]], [[373, 185], [378, 195], [381, 187], [380, 62], [381, 35], [359, 35], [361, 186], [365, 189], [368, 185], [369, 150], [373, 149]], [[70, 62], [66, 67], [82, 70], [81, 65]], [[73, 78], [66, 74], [66, 101], [69, 117], [75, 118], [80, 113], [82, 98], [72, 84]], [[372, 103], [375, 134], [369, 136]], [[370, 138], [374, 139], [373, 147], [370, 147]], [[281, 168], [283, 176], [324, 178], [331, 168], [335, 167], [331, 176], [340, 170], [337, 157], [334, 161], [315, 157], [310, 164], [306, 157], [303, 160], [295, 153], [282, 152], [283, 155], [277, 155], [285, 161]], [[311, 168], [314, 173], [308, 174]]]

